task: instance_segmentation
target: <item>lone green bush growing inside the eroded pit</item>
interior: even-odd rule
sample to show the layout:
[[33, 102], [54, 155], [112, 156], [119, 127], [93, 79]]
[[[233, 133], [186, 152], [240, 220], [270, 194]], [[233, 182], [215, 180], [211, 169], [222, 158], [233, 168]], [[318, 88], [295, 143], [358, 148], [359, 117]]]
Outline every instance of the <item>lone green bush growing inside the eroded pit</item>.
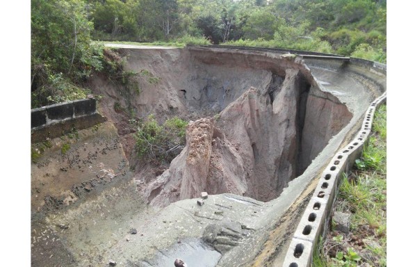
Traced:
[[138, 122], [136, 151], [141, 159], [152, 163], [170, 163], [186, 144], [188, 122], [177, 117], [158, 124], [154, 115]]

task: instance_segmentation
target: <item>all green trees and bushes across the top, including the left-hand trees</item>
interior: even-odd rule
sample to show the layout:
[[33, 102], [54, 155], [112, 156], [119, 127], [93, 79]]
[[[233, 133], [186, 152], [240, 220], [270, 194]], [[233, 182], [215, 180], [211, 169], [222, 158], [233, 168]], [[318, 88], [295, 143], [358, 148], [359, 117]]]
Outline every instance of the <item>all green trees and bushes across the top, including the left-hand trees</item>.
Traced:
[[32, 0], [32, 108], [85, 98], [94, 72], [140, 92], [123, 56], [92, 40], [281, 47], [385, 63], [386, 1]]

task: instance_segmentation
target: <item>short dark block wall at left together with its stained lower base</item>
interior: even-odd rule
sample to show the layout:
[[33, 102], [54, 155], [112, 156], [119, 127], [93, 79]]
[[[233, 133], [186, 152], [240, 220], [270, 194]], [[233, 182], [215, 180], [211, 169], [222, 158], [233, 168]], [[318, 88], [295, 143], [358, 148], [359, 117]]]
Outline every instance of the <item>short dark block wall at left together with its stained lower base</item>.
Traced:
[[96, 99], [92, 98], [34, 108], [31, 111], [31, 141], [56, 138], [73, 128], [85, 129], [105, 121], [106, 118], [97, 113]]

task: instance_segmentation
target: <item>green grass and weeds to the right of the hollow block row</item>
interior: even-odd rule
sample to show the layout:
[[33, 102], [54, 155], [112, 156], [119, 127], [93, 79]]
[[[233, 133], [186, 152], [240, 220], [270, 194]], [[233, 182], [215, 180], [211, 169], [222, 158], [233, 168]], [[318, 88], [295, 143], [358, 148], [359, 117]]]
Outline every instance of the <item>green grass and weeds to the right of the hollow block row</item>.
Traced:
[[350, 213], [350, 233], [332, 229], [314, 266], [386, 266], [386, 105], [375, 112], [372, 136], [343, 179], [334, 210]]

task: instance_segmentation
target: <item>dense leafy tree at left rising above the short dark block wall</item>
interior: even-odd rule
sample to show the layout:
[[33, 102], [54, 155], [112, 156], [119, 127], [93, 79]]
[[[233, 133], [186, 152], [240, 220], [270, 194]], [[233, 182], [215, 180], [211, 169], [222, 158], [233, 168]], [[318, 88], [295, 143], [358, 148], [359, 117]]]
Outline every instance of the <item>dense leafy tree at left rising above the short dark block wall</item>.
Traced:
[[31, 87], [38, 104], [60, 95], [57, 83], [82, 81], [99, 67], [90, 47], [91, 31], [85, 1], [32, 0]]

